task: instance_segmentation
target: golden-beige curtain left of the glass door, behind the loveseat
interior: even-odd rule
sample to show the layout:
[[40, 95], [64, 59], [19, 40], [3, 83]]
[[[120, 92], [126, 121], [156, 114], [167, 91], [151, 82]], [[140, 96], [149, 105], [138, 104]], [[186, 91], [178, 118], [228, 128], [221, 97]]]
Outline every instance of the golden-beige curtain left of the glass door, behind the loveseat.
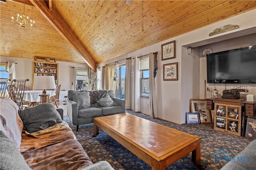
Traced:
[[106, 90], [113, 90], [116, 93], [117, 81], [113, 80], [114, 74], [116, 72], [116, 63], [111, 63], [105, 66], [105, 82]]

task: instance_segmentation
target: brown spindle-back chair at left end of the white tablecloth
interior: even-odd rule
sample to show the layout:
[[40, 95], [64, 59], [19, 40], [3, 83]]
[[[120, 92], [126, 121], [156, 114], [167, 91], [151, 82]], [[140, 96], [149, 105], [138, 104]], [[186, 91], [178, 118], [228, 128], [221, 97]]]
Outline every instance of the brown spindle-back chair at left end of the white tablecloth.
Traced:
[[[25, 84], [29, 81], [29, 79], [26, 80], [12, 80], [11, 85], [7, 87], [7, 91], [9, 93], [9, 97], [19, 106], [20, 109], [23, 109], [24, 107], [30, 107], [29, 103], [27, 101], [23, 100], [24, 96], [24, 90], [25, 90]], [[20, 88], [17, 88], [20, 87]], [[24, 106], [26, 104], [27, 106]]]

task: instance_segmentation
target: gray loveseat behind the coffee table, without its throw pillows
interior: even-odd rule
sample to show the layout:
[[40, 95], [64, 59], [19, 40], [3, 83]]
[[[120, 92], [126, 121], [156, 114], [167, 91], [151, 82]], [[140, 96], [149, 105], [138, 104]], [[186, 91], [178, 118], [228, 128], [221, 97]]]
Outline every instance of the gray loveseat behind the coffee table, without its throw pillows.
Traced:
[[[100, 90], [99, 90], [100, 91]], [[86, 90], [74, 91], [68, 90], [68, 102], [67, 102], [67, 112], [68, 117], [72, 121], [73, 125], [76, 125], [76, 131], [78, 131], [79, 125], [93, 123], [94, 117], [101, 117], [106, 115], [114, 115], [118, 113], [125, 113], [125, 100], [120, 98], [115, 98], [113, 90], [107, 90], [109, 95], [117, 106], [102, 107], [96, 104], [91, 104], [88, 108], [78, 109], [78, 104], [73, 100], [74, 93], [80, 92], [90, 92]]]

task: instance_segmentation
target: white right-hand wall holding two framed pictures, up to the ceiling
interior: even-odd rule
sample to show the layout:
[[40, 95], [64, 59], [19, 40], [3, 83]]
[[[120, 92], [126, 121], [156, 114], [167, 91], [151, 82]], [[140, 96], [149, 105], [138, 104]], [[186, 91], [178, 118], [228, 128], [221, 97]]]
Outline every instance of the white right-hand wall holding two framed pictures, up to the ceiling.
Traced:
[[[239, 25], [240, 28], [209, 37], [209, 33], [214, 29], [227, 24]], [[185, 123], [185, 112], [189, 111], [189, 99], [199, 98], [201, 84], [199, 73], [199, 53], [201, 53], [201, 51], [198, 48], [194, 48], [192, 55], [188, 55], [186, 47], [199, 47], [225, 39], [238, 37], [241, 36], [241, 34], [246, 35], [255, 32], [256, 10], [251, 10], [177, 37], [173, 37], [166, 41], [150, 45], [143, 49], [128, 53], [127, 55], [116, 57], [111, 61], [98, 64], [98, 66], [118, 61], [119, 59], [138, 57], [150, 52], [158, 51], [158, 72], [156, 76], [158, 117], [174, 123]], [[176, 40], [176, 58], [161, 61], [161, 45], [173, 40]], [[178, 62], [178, 80], [164, 81], [163, 64], [175, 62]], [[133, 88], [131, 91], [134, 92], [134, 83], [132, 80], [131, 87]], [[146, 108], [145, 105], [147, 102], [141, 100], [140, 103], [143, 104], [143, 106], [140, 106], [142, 109]]]

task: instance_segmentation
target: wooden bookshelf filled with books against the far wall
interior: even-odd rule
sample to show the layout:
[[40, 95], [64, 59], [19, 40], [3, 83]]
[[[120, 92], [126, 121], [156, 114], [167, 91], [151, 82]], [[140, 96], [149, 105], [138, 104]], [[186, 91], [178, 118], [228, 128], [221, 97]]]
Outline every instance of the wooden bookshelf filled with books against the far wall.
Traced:
[[58, 85], [58, 73], [58, 63], [33, 61], [33, 89], [34, 76], [54, 76], [55, 84]]

